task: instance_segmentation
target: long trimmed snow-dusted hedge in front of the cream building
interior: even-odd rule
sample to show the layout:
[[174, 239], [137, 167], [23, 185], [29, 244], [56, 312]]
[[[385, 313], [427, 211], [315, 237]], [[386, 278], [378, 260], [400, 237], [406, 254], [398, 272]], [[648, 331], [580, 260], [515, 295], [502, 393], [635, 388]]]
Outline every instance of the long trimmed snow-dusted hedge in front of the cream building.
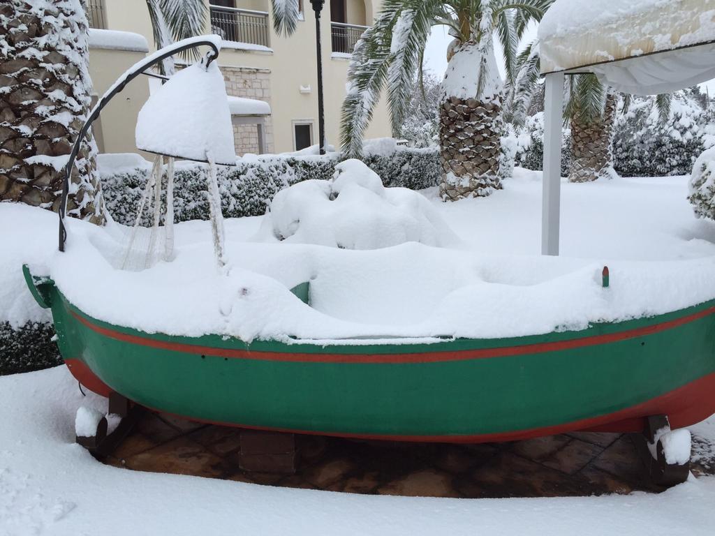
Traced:
[[[239, 159], [235, 167], [220, 167], [218, 182], [224, 215], [235, 218], [265, 214], [270, 200], [281, 189], [307, 179], [330, 179], [339, 160], [336, 153], [324, 157], [270, 155], [245, 157]], [[397, 147], [394, 140], [380, 140], [366, 147], [363, 160], [382, 177], [387, 187], [423, 189], [435, 186], [440, 179], [436, 148], [411, 149]], [[135, 160], [134, 163], [134, 166], [114, 166], [111, 159], [99, 160], [107, 208], [122, 224], [134, 223], [150, 171], [147, 162]], [[208, 218], [207, 173], [208, 167], [202, 164], [177, 165], [174, 192], [177, 222]]]

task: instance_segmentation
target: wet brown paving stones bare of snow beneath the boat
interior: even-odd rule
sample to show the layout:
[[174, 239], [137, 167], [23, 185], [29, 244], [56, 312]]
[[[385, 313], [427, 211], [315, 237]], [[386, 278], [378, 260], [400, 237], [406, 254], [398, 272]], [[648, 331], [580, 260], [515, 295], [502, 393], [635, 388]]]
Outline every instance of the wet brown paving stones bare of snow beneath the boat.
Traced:
[[[296, 436], [294, 475], [244, 472], [240, 430], [144, 412], [106, 460], [130, 470], [340, 492], [423, 497], [567, 497], [660, 492], [631, 435], [573, 433], [483, 445]], [[713, 460], [696, 476], [715, 474]]]

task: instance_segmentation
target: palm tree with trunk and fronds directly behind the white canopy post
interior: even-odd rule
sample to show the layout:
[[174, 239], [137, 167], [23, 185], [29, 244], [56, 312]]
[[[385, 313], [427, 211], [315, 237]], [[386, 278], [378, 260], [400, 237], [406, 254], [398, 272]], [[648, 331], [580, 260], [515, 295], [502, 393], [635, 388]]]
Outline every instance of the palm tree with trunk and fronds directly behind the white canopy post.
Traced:
[[[538, 42], [533, 41], [517, 59], [517, 74], [508, 90], [508, 119], [523, 124], [526, 111], [534, 99], [543, 97], [540, 91], [540, 61]], [[623, 111], [628, 109], [630, 96], [623, 97]], [[670, 115], [671, 95], [656, 97], [661, 120]], [[590, 182], [601, 177], [613, 177], [613, 121], [618, 112], [618, 95], [603, 86], [593, 74], [570, 76], [566, 83], [564, 121], [571, 126], [570, 182]]]

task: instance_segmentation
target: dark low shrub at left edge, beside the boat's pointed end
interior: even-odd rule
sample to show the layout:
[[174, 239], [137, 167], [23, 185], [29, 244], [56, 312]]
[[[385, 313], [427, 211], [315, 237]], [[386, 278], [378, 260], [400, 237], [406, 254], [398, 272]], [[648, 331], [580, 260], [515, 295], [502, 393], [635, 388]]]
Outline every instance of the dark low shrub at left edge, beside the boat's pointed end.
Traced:
[[0, 322], [0, 376], [61, 364], [62, 358], [52, 337], [52, 324], [27, 322], [12, 327], [10, 322]]

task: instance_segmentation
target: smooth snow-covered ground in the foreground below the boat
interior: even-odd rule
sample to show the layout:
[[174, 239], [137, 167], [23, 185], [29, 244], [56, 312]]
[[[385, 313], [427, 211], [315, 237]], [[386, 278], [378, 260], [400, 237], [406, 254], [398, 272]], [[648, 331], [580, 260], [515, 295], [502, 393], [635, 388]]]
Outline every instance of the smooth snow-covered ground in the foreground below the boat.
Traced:
[[[713, 532], [715, 478], [661, 495], [431, 499], [265, 487], [102, 465], [74, 444], [64, 367], [0, 377], [0, 535], [643, 535]], [[715, 442], [715, 422], [699, 425]], [[698, 432], [696, 432], [698, 433]]]

